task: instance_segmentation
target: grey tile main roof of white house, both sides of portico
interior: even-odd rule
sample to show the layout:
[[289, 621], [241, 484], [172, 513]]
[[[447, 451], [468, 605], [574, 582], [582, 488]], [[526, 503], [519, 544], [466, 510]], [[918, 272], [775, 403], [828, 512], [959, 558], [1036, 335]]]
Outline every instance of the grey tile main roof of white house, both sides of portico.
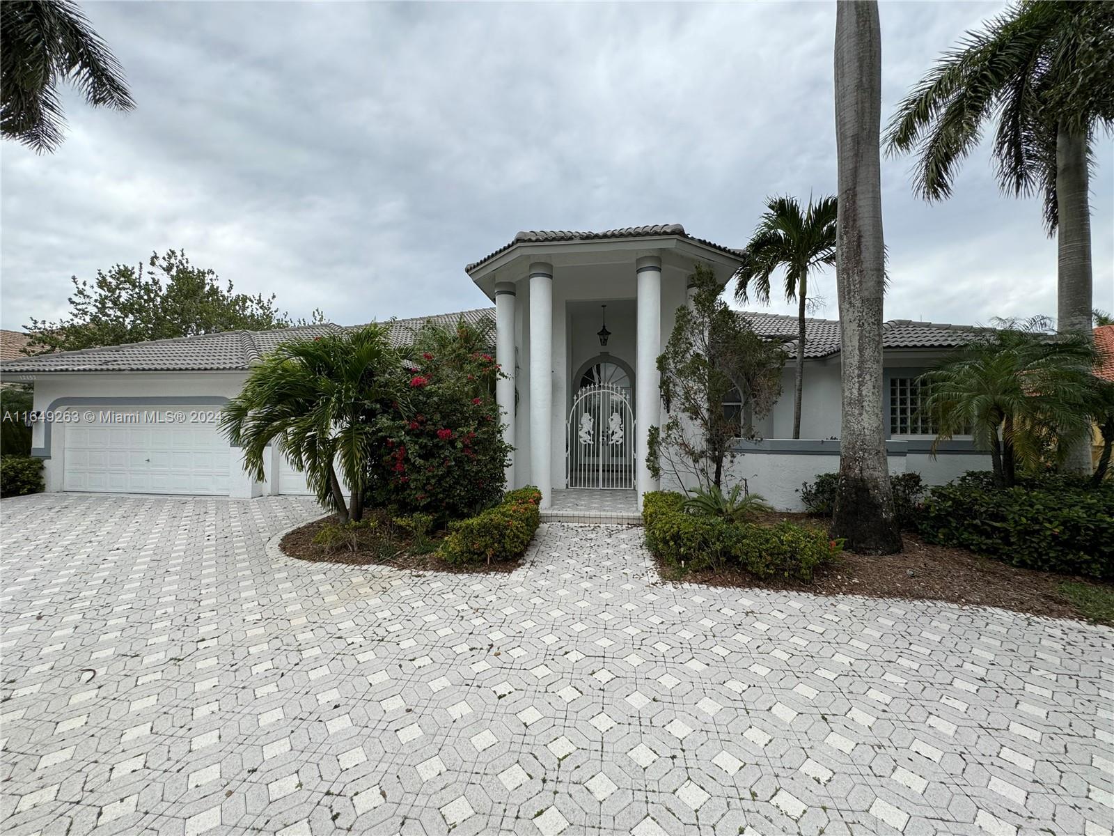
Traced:
[[[797, 317], [782, 313], [741, 311], [746, 322], [760, 337], [782, 339], [791, 347], [797, 339]], [[495, 308], [475, 308], [468, 311], [439, 313], [431, 317], [391, 320], [389, 339], [392, 344], [409, 342], [426, 322], [455, 325], [463, 319], [477, 324], [485, 317], [494, 318]], [[174, 340], [133, 342], [125, 346], [62, 351], [37, 357], [4, 360], [2, 371], [19, 372], [75, 372], [75, 371], [236, 371], [251, 367], [263, 354], [273, 351], [291, 339], [306, 339], [325, 333], [340, 333], [362, 325], [341, 327], [333, 323], [301, 325], [273, 331], [225, 331], [223, 333], [182, 337]], [[810, 359], [830, 357], [839, 352], [839, 320], [809, 318], [804, 321], [804, 356]], [[890, 320], [882, 325], [882, 347], [888, 349], [955, 348], [970, 339], [980, 329], [974, 325], [951, 325], [936, 322]], [[1097, 332], [1102, 329], [1096, 329]], [[1114, 342], [1114, 327], [1107, 327]], [[6, 332], [8, 333], [8, 332]], [[1096, 339], [1097, 336], [1096, 336]], [[1114, 347], [1112, 347], [1114, 350]]]

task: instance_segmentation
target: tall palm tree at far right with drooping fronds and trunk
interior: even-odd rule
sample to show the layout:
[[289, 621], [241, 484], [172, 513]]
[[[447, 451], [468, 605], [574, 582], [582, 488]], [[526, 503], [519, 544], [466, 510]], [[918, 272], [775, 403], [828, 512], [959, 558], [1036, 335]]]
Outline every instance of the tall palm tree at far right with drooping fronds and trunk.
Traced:
[[[970, 31], [901, 103], [890, 150], [916, 152], [913, 186], [951, 193], [959, 162], [997, 119], [994, 157], [1003, 189], [1044, 197], [1057, 232], [1057, 323], [1089, 331], [1092, 305], [1089, 139], [1114, 124], [1114, 3], [1023, 0]], [[1086, 473], [1076, 445], [1066, 469]]]

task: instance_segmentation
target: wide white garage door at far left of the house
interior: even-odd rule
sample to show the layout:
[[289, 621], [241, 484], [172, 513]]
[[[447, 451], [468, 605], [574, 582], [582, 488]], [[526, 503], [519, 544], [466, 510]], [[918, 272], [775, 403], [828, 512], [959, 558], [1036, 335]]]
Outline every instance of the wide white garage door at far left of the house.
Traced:
[[[213, 410], [183, 407], [186, 417]], [[207, 414], [208, 412], [208, 414]], [[169, 422], [165, 412], [96, 411], [66, 427], [66, 490], [228, 495], [228, 441], [216, 420]]]

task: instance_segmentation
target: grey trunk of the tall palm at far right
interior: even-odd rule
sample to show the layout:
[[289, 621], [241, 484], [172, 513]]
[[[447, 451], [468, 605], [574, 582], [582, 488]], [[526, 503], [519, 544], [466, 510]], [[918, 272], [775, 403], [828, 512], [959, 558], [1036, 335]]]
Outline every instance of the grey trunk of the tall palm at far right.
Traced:
[[[1056, 134], [1056, 328], [1093, 334], [1088, 185], [1086, 134], [1061, 125]], [[1061, 461], [1063, 473], [1089, 474], [1091, 439], [1081, 436], [1067, 443]]]

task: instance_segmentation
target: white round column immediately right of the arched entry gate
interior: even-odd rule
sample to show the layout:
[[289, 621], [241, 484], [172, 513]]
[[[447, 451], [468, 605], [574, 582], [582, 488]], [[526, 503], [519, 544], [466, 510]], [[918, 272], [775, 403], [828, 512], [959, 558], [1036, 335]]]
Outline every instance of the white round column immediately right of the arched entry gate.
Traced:
[[662, 352], [662, 260], [645, 255], [635, 263], [638, 288], [637, 349], [635, 354], [634, 419], [638, 429], [635, 447], [635, 487], [638, 507], [642, 495], [657, 490], [657, 480], [646, 467], [646, 447], [649, 428], [661, 424], [662, 396], [658, 389], [657, 356]]

